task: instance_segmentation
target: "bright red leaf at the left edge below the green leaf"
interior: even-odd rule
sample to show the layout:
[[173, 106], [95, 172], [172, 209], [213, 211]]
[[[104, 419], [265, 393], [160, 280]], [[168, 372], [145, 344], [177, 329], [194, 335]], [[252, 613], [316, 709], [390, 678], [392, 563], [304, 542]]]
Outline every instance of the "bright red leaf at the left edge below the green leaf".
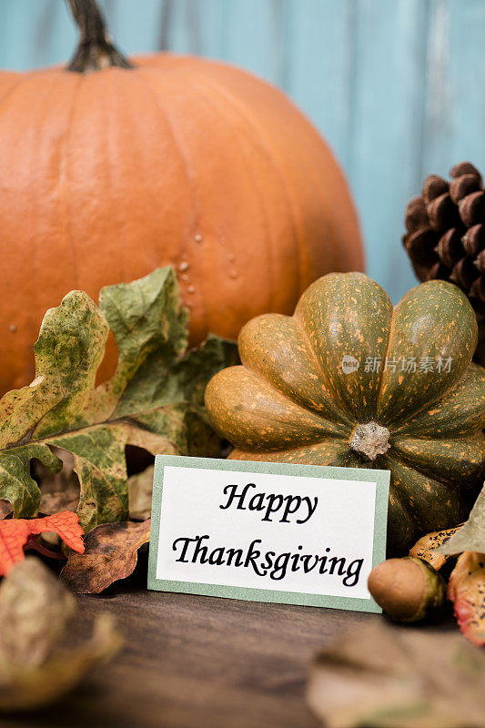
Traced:
[[73, 511], [61, 511], [45, 518], [0, 521], [0, 576], [24, 559], [24, 547], [39, 533], [54, 531], [69, 548], [84, 553], [84, 531]]

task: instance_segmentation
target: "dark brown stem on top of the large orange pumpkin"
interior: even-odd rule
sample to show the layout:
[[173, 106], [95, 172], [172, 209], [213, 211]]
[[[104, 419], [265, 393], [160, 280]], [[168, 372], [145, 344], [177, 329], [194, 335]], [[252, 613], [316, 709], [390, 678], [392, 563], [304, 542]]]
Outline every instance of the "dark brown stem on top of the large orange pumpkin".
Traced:
[[67, 0], [67, 5], [74, 15], [80, 34], [76, 53], [67, 66], [68, 71], [87, 74], [108, 66], [133, 68], [113, 45], [96, 0]]

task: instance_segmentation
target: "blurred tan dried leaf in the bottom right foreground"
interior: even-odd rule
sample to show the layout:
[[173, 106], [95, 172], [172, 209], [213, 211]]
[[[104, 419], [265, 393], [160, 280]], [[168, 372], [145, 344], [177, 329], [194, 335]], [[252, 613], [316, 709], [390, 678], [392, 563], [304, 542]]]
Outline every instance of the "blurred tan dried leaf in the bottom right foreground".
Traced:
[[456, 633], [373, 622], [320, 652], [308, 703], [327, 728], [484, 728], [485, 654]]

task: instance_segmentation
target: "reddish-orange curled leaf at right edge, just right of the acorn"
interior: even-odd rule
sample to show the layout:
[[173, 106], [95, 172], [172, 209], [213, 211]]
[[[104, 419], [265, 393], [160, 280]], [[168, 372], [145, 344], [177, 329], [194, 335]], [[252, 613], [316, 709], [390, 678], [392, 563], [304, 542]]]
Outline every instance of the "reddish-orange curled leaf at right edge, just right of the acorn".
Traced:
[[448, 598], [461, 632], [478, 646], [485, 644], [485, 554], [464, 551], [450, 575]]

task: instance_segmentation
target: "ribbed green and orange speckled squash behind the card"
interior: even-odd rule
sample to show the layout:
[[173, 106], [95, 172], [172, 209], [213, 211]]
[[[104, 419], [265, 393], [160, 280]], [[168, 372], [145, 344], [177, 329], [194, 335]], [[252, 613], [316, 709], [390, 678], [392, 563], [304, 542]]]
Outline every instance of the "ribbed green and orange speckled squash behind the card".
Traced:
[[[389, 552], [404, 553], [456, 525], [466, 489], [485, 477], [477, 335], [448, 282], [421, 284], [393, 309], [367, 276], [332, 273], [293, 317], [249, 321], [242, 366], [210, 380], [207, 412], [237, 460], [389, 469]], [[359, 367], [343, 367], [349, 357]]]

